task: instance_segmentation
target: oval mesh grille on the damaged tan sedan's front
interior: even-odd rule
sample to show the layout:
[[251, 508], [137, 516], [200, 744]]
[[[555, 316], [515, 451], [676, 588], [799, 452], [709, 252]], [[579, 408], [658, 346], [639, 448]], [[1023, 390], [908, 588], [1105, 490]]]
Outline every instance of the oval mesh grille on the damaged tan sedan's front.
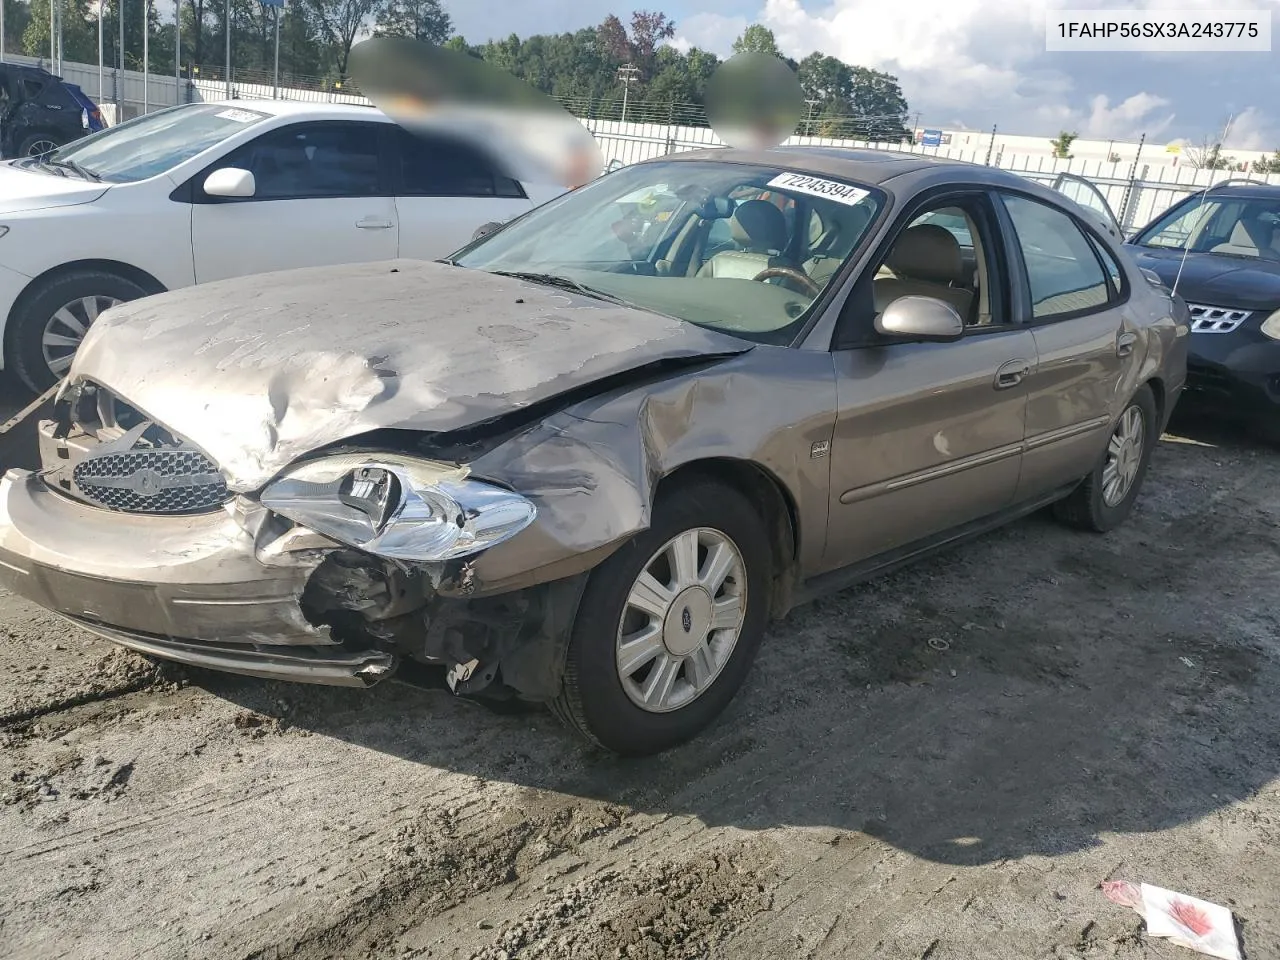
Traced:
[[189, 447], [90, 456], [72, 476], [84, 497], [128, 513], [202, 513], [230, 499], [214, 462]]

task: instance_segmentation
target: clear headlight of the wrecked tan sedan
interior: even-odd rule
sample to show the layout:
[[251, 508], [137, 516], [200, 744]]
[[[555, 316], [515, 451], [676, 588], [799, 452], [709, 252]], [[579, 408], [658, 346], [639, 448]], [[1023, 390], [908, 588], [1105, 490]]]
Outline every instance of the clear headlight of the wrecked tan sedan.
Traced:
[[303, 463], [262, 506], [339, 543], [402, 561], [444, 561], [508, 540], [538, 515], [526, 498], [466, 471], [394, 454]]

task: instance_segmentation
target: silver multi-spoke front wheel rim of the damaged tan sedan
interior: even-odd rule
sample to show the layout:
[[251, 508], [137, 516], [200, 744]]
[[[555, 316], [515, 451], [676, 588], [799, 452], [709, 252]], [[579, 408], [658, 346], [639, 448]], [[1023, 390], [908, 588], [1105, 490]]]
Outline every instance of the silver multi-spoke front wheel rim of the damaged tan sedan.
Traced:
[[617, 632], [618, 678], [649, 713], [669, 713], [710, 689], [746, 616], [746, 567], [710, 527], [686, 530], [649, 558], [627, 594]]

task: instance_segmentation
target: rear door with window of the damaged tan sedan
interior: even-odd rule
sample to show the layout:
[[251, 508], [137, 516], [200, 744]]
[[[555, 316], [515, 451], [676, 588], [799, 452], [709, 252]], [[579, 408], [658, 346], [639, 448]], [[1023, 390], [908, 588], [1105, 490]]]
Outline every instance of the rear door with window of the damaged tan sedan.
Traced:
[[1028, 378], [1027, 445], [1018, 499], [1080, 479], [1101, 456], [1138, 328], [1128, 282], [1082, 214], [1001, 191], [1005, 229], [1020, 268], [1019, 317], [1036, 338]]

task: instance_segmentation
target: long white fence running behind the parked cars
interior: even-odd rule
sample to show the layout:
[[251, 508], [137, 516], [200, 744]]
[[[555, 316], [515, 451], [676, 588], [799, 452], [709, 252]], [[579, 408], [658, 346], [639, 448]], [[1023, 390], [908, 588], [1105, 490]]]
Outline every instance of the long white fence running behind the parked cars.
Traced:
[[[31, 58], [14, 58], [26, 63], [37, 63]], [[64, 63], [61, 76], [72, 83], [78, 83], [86, 93], [100, 102], [119, 102], [123, 119], [137, 116], [143, 106], [155, 110], [177, 102], [204, 100], [223, 100], [227, 97], [227, 83], [223, 79], [182, 79], [163, 74], [151, 74], [143, 83], [143, 76], [124, 70], [105, 69], [99, 74], [97, 67], [90, 64]], [[256, 76], [259, 77], [259, 76]], [[101, 79], [101, 83], [100, 83]], [[145, 91], [145, 96], [143, 96]], [[242, 100], [266, 100], [274, 96], [271, 84], [232, 82], [232, 96]], [[285, 100], [306, 100], [312, 102], [369, 102], [361, 96], [340, 91], [297, 90], [282, 87], [279, 96]], [[627, 165], [685, 150], [723, 146], [719, 137], [707, 127], [681, 127], [657, 123], [623, 123], [621, 120], [596, 120], [582, 118], [582, 123], [595, 136], [604, 154], [604, 161]], [[948, 157], [969, 163], [989, 164], [1004, 170], [1020, 174], [1029, 179], [1051, 182], [1059, 173], [1082, 175], [1107, 198], [1111, 209], [1125, 229], [1148, 223], [1160, 212], [1197, 189], [1219, 180], [1240, 177], [1226, 170], [1196, 170], [1190, 166], [1169, 166], [1164, 160], [1152, 157], [1151, 163], [1125, 160], [1107, 163], [1105, 160], [1059, 160], [1043, 155], [1014, 154], [1005, 151], [992, 141], [991, 148], [966, 148], [954, 146], [923, 147], [901, 143], [876, 143], [852, 140], [833, 140], [829, 137], [792, 137], [792, 145], [847, 146], [872, 150], [900, 150], [927, 156]], [[1280, 183], [1280, 174], [1266, 177], [1253, 175], [1251, 179], [1266, 183]]]

